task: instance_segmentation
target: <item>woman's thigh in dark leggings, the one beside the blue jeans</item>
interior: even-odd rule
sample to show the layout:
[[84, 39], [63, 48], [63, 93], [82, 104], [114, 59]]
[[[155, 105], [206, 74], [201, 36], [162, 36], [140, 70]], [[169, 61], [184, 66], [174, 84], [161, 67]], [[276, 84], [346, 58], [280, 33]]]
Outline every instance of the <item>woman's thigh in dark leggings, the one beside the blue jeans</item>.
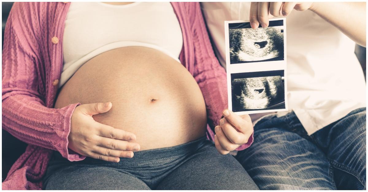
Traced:
[[258, 186], [233, 156], [210, 146], [174, 170], [158, 189], [258, 190]]

